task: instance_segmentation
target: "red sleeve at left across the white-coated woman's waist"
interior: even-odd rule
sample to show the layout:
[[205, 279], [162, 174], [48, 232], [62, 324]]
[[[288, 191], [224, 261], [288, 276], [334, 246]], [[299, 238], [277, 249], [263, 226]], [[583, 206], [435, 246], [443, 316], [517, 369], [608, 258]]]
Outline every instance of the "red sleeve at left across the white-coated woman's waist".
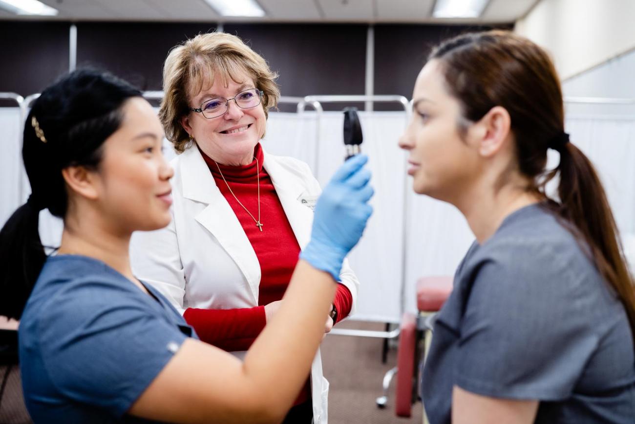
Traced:
[[248, 350], [266, 324], [265, 307], [240, 309], [187, 308], [183, 314], [199, 338], [227, 352]]

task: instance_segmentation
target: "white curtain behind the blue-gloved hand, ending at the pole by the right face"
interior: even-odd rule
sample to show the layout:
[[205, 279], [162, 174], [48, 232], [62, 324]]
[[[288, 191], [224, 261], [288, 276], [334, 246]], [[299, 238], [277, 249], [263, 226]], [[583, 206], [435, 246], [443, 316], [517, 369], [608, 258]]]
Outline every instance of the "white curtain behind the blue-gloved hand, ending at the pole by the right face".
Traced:
[[[398, 322], [402, 310], [405, 154], [398, 149], [406, 121], [404, 113], [359, 113], [364, 134], [362, 150], [370, 156], [375, 212], [364, 238], [349, 259], [359, 277], [357, 319]], [[322, 186], [344, 161], [344, 114], [271, 113], [264, 146], [275, 154], [293, 156], [311, 166]], [[319, 141], [318, 141], [319, 137]], [[318, 142], [318, 146], [316, 146]]]

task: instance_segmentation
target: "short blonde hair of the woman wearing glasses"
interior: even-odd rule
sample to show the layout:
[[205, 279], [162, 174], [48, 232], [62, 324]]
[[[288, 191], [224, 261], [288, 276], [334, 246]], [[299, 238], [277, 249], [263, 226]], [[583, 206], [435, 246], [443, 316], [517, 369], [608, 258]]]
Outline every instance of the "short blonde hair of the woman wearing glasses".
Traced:
[[235, 78], [241, 72], [251, 76], [255, 88], [264, 93], [262, 106], [265, 117], [269, 116], [269, 109], [277, 106], [280, 97], [277, 74], [240, 38], [224, 32], [199, 34], [170, 51], [163, 65], [164, 97], [159, 119], [175, 151], [182, 153], [191, 145], [181, 125], [181, 118], [190, 113], [190, 95], [199, 93], [206, 84], [211, 86], [216, 75], [223, 78], [225, 86], [229, 78], [241, 83]]

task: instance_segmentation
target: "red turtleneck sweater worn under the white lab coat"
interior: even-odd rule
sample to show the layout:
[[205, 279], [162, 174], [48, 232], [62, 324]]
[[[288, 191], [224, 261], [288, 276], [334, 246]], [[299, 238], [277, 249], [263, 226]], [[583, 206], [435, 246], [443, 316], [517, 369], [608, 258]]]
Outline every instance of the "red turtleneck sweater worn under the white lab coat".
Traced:
[[[298, 261], [300, 246], [276, 194], [271, 177], [262, 167], [264, 157], [260, 144], [256, 146], [254, 151], [257, 161], [254, 160], [249, 165], [240, 167], [230, 167], [220, 165], [220, 163], [217, 166], [214, 160], [203, 152], [201, 154], [203, 154], [203, 159], [210, 168], [220, 192], [225, 196], [238, 221], [242, 224], [244, 233], [258, 257], [261, 270], [258, 292], [259, 306], [229, 310], [188, 308], [185, 310], [184, 318], [188, 324], [194, 327], [199, 338], [206, 343], [218, 346], [228, 352], [248, 350], [251, 343], [265, 327], [264, 305], [282, 299]], [[227, 184], [218, 172], [218, 167], [220, 167]], [[262, 231], [258, 229], [254, 221], [254, 218], [258, 219], [257, 171], [258, 179], [260, 179]], [[254, 218], [236, 202], [227, 188], [228, 184], [234, 195]], [[333, 304], [337, 309], [338, 322], [351, 312], [352, 296], [345, 285], [337, 285]], [[326, 315], [324, 320], [326, 320]], [[296, 404], [310, 398], [311, 386], [307, 382]]]

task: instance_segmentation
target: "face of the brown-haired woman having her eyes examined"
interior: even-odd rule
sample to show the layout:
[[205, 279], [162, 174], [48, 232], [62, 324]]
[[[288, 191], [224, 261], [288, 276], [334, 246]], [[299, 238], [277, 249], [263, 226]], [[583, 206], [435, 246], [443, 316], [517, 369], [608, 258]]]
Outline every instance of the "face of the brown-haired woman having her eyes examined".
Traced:
[[441, 63], [431, 60], [417, 77], [412, 118], [399, 140], [399, 147], [410, 152], [408, 174], [416, 193], [456, 204], [469, 186], [479, 162], [469, 128], [460, 133], [462, 121], [458, 100], [445, 88]]

